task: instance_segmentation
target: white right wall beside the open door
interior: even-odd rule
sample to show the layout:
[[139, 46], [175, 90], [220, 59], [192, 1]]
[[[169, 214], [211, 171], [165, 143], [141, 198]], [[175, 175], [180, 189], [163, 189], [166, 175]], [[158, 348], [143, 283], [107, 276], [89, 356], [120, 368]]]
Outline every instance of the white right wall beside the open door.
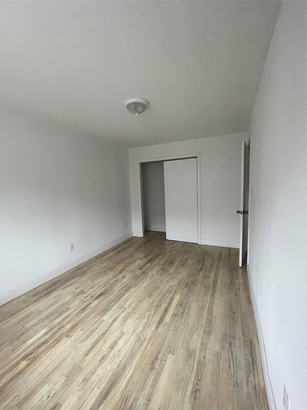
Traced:
[[278, 409], [306, 410], [306, 2], [282, 2], [248, 132], [251, 282]]

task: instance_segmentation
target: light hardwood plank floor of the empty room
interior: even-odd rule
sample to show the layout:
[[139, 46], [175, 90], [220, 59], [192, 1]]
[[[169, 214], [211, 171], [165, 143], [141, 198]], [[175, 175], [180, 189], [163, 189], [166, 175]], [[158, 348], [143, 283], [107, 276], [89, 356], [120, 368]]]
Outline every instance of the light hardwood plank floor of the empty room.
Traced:
[[133, 237], [1, 307], [0, 409], [269, 409], [238, 250]]

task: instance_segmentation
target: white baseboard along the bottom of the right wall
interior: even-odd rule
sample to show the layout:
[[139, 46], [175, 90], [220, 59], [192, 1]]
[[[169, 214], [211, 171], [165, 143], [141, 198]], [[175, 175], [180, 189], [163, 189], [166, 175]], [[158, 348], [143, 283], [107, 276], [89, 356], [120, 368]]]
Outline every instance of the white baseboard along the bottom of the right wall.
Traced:
[[258, 309], [257, 309], [257, 304], [256, 304], [256, 299], [255, 299], [255, 293], [253, 289], [253, 282], [251, 280], [251, 271], [249, 270], [249, 265], [247, 265], [247, 277], [248, 277], [249, 289], [251, 291], [253, 310], [254, 310], [255, 320], [256, 320], [256, 328], [257, 328], [257, 334], [258, 334], [258, 340], [259, 340], [260, 358], [261, 358], [261, 364], [262, 364], [264, 385], [266, 389], [266, 396], [268, 398], [270, 410], [277, 410], [275, 399], [274, 399], [274, 394], [273, 394], [273, 389], [272, 389], [272, 384], [271, 384], [271, 379], [269, 375], [268, 362], [266, 360], [264, 340], [262, 336], [262, 330], [261, 330]]

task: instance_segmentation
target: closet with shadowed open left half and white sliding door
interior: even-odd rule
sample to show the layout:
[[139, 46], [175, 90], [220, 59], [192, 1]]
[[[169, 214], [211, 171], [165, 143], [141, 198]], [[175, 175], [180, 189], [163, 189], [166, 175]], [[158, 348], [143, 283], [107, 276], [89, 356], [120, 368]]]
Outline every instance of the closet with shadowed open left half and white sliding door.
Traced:
[[142, 164], [144, 229], [198, 243], [197, 158]]

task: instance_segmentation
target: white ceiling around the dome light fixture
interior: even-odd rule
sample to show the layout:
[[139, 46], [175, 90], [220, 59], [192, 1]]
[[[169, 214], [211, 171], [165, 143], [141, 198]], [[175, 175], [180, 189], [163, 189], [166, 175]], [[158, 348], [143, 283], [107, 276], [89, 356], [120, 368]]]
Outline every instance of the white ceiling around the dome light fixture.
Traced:
[[245, 131], [279, 5], [1, 1], [1, 103], [130, 147]]

